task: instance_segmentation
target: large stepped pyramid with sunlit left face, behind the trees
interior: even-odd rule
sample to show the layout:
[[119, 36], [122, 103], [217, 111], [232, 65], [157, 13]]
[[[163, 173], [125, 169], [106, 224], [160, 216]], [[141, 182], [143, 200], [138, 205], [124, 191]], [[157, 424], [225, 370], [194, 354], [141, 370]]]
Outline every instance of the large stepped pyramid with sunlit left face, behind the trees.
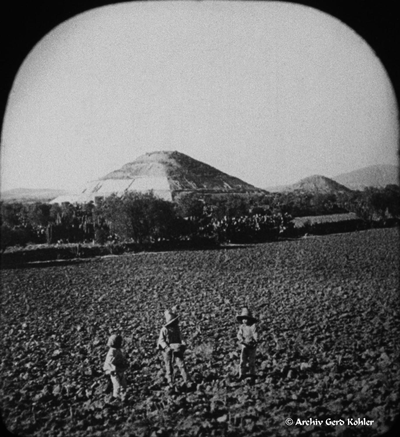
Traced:
[[97, 197], [126, 191], [148, 192], [172, 201], [182, 194], [193, 192], [213, 194], [249, 193], [264, 190], [229, 176], [208, 164], [179, 152], [151, 152], [139, 156], [132, 163], [89, 182], [76, 196], [59, 196], [51, 203], [87, 203]]

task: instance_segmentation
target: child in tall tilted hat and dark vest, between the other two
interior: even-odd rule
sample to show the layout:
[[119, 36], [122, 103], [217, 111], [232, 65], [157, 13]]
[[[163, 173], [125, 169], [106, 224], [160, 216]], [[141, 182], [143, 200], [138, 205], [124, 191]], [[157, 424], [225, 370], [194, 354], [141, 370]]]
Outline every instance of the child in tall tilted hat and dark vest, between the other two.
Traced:
[[182, 339], [181, 330], [179, 329], [179, 316], [172, 310], [167, 309], [164, 312], [165, 324], [160, 330], [157, 347], [163, 352], [163, 359], [165, 363], [165, 370], [167, 373], [168, 385], [173, 387], [173, 361], [181, 371], [184, 384], [188, 383], [188, 373], [184, 362], [184, 351], [186, 350], [186, 343]]

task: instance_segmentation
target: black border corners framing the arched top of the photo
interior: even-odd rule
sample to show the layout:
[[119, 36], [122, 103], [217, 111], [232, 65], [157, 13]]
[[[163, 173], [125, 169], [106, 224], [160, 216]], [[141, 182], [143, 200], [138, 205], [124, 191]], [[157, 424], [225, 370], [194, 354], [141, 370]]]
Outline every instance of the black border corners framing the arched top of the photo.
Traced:
[[[191, 1], [191, 0], [188, 0]], [[234, 0], [232, 0], [234, 1]], [[268, 2], [270, 0], [264, 0]], [[399, 28], [395, 2], [389, 0], [304, 0], [292, 1], [314, 7], [353, 28], [372, 47], [389, 74], [399, 101]], [[25, 4], [24, 4], [25, 3]], [[25, 57], [49, 31], [63, 21], [95, 7], [121, 3], [107, 0], [68, 2], [10, 1], [3, 18], [3, 74], [1, 90], [2, 121], [14, 77]]]

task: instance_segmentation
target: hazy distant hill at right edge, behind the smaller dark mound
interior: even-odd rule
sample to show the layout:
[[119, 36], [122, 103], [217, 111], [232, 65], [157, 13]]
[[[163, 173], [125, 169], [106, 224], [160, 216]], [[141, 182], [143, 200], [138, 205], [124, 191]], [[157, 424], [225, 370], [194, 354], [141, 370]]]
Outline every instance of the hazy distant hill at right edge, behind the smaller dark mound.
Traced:
[[332, 178], [351, 190], [363, 190], [365, 187], [386, 187], [399, 185], [399, 167], [390, 164], [372, 165], [350, 173], [342, 173]]

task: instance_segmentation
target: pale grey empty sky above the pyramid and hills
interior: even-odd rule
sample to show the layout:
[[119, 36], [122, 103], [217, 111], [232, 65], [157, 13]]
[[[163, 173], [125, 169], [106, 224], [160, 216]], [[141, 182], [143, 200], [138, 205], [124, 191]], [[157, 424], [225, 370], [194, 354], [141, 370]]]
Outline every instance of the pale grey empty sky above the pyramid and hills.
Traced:
[[4, 118], [1, 189], [75, 191], [177, 150], [257, 187], [397, 164], [397, 103], [369, 45], [310, 7], [133, 2], [60, 24]]

